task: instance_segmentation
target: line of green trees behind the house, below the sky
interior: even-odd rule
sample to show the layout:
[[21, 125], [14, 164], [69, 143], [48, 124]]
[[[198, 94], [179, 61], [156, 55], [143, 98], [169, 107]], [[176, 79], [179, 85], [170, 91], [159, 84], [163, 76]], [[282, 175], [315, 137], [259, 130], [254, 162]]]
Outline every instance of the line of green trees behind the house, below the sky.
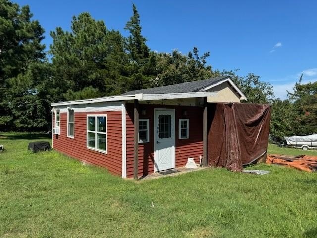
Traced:
[[[32, 16], [29, 6], [0, 0], [0, 131], [49, 130], [52, 102], [224, 75], [231, 76], [248, 103], [272, 104], [271, 133], [276, 138], [292, 129], [297, 133], [299, 125], [316, 120], [316, 84], [299, 82], [295, 93], [282, 101], [274, 99], [270, 83], [253, 73], [242, 77], [237, 70], [214, 70], [206, 61], [209, 52], [200, 54], [196, 47], [188, 54], [153, 51], [142, 35], [134, 4], [124, 28], [127, 37], [84, 12], [73, 16], [70, 31], [57, 27], [50, 32], [53, 42], [48, 51], [41, 43], [45, 31]], [[307, 108], [306, 102], [315, 106]], [[300, 118], [295, 119], [296, 125], [292, 124], [295, 116]], [[317, 133], [316, 126], [305, 133], [314, 130]]]

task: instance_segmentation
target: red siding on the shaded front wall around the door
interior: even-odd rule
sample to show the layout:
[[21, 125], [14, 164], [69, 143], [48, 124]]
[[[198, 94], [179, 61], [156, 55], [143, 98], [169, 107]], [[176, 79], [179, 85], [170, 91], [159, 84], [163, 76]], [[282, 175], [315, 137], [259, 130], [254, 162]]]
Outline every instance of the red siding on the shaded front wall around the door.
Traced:
[[[140, 176], [154, 172], [154, 109], [175, 109], [175, 159], [176, 167], [185, 166], [188, 157], [193, 157], [199, 163], [199, 156], [203, 155], [203, 108], [193, 106], [167, 106], [140, 104], [140, 119], [149, 119], [150, 138], [147, 143], [139, 143], [138, 174]], [[127, 135], [127, 177], [133, 176], [134, 159], [134, 125], [133, 104], [127, 104], [126, 135]], [[141, 110], [146, 110], [146, 115], [141, 115]], [[182, 116], [187, 110], [187, 116]], [[189, 119], [189, 138], [178, 139], [178, 119]]]

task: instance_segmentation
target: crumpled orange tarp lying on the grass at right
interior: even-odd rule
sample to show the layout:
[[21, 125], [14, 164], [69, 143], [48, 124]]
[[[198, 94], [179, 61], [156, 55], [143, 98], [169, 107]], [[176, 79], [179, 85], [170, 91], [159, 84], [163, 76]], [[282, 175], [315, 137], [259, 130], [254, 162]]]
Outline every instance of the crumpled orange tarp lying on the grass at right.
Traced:
[[317, 171], [317, 156], [268, 155], [266, 164], [285, 165], [307, 172], [315, 172]]

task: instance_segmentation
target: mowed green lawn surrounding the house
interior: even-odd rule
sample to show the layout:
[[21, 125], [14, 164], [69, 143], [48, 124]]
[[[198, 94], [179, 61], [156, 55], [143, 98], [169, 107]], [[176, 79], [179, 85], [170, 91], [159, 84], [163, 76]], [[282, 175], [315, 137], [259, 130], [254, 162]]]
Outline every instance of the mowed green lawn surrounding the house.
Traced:
[[317, 174], [261, 164], [252, 169], [270, 174], [211, 168], [134, 182], [55, 151], [28, 152], [30, 141], [50, 141], [37, 134], [2, 135], [3, 238], [317, 236]]

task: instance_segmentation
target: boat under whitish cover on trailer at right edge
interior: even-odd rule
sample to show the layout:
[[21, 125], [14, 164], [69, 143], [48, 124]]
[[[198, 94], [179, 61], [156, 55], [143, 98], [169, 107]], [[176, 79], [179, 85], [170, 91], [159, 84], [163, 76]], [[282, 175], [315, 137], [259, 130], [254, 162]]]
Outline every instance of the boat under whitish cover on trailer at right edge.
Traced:
[[301, 148], [303, 150], [317, 149], [317, 134], [284, 137], [284, 146]]

